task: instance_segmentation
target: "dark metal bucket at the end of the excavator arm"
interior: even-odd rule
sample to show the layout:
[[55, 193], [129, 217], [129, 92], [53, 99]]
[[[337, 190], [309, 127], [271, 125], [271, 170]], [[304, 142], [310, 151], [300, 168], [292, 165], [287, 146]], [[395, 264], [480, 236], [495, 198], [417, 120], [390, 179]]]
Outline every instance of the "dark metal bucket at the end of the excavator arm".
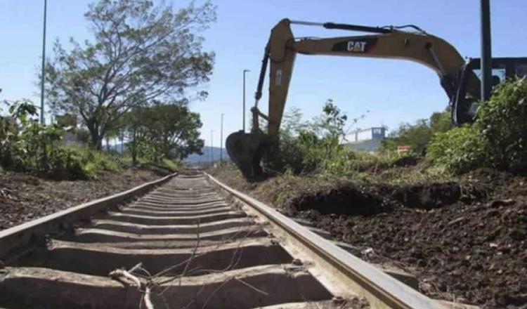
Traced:
[[227, 137], [228, 155], [245, 178], [254, 179], [262, 175], [260, 161], [266, 150], [266, 140], [266, 135], [261, 132], [238, 131]]

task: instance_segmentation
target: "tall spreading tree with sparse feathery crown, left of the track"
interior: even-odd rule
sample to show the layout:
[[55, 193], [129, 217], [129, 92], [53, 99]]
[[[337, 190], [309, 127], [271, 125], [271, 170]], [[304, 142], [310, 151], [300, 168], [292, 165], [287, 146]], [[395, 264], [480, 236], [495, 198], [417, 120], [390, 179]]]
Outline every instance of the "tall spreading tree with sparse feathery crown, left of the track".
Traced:
[[215, 20], [210, 2], [193, 2], [174, 12], [149, 0], [99, 0], [84, 15], [93, 42], [59, 41], [46, 66], [48, 102], [53, 110], [79, 114], [91, 143], [102, 140], [123, 114], [155, 98], [176, 99], [209, 80], [214, 53], [203, 51], [199, 32]]

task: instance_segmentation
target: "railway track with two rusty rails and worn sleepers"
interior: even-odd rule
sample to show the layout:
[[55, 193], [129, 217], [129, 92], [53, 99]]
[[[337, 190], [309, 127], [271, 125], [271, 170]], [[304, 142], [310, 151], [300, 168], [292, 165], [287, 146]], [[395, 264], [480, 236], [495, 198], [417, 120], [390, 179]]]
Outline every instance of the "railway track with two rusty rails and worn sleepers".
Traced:
[[197, 171], [4, 230], [0, 259], [1, 308], [448, 308]]

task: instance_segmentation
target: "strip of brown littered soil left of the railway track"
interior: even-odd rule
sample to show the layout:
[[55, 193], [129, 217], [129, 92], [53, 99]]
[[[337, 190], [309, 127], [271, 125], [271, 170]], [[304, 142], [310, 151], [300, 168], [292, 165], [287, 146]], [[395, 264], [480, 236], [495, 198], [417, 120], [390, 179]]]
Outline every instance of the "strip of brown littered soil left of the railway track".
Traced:
[[25, 173], [0, 173], [0, 230], [77, 204], [129, 190], [161, 177], [159, 170], [101, 173], [96, 180], [54, 181]]

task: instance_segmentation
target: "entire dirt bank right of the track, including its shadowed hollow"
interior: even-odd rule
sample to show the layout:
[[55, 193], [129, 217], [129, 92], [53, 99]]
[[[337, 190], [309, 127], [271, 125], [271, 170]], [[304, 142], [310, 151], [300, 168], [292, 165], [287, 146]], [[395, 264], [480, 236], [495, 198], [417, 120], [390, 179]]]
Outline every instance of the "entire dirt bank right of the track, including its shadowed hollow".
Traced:
[[366, 261], [398, 265], [433, 298], [527, 308], [527, 178], [481, 169], [458, 182], [398, 187], [294, 176], [246, 183], [232, 168], [213, 173], [310, 219]]

